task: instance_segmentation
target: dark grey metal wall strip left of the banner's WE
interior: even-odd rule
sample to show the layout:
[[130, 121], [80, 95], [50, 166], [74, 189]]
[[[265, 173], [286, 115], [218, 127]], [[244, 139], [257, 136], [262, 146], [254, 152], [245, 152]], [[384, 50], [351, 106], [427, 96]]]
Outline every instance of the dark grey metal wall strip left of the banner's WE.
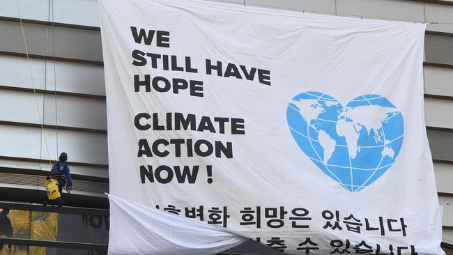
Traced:
[[[100, 31], [30, 23], [24, 24], [24, 31], [30, 54], [52, 56], [54, 33], [55, 56], [102, 61]], [[0, 51], [25, 52], [19, 22], [0, 21], [0, 33], [8, 34], [0, 36]]]

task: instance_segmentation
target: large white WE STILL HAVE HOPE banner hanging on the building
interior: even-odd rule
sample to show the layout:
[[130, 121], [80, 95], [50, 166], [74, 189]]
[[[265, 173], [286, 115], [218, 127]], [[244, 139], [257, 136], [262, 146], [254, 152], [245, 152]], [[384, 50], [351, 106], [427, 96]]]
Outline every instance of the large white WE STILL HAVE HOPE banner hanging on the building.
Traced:
[[109, 254], [443, 254], [425, 24], [99, 0]]

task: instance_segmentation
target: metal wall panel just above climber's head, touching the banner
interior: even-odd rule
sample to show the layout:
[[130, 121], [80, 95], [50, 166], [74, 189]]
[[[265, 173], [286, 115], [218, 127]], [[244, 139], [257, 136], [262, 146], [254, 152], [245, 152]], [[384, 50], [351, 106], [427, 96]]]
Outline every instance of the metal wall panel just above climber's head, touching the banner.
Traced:
[[[56, 130], [45, 129], [47, 147], [52, 160], [59, 153], [68, 153], [68, 161], [92, 164], [109, 164], [107, 155], [107, 134], [58, 130], [59, 151], [56, 151]], [[47, 148], [43, 142], [43, 159], [48, 160]], [[0, 154], [1, 155], [1, 154]]]

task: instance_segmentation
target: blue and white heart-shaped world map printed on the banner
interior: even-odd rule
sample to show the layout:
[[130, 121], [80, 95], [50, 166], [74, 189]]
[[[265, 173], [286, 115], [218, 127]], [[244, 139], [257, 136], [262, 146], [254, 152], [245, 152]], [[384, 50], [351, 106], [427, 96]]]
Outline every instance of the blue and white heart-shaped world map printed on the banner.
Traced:
[[403, 144], [403, 115], [381, 95], [362, 95], [343, 107], [330, 95], [304, 92], [289, 103], [286, 118], [305, 155], [350, 192], [381, 177]]

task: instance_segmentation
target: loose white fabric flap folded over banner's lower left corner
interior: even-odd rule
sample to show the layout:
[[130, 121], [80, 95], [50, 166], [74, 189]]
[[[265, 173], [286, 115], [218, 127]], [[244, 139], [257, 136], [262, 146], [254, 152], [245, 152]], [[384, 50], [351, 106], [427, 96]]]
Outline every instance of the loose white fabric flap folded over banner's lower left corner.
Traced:
[[110, 238], [115, 241], [109, 242], [109, 254], [215, 254], [245, 241], [224, 229], [174, 217], [112, 194], [109, 201], [110, 213], [116, 215], [110, 220]]

